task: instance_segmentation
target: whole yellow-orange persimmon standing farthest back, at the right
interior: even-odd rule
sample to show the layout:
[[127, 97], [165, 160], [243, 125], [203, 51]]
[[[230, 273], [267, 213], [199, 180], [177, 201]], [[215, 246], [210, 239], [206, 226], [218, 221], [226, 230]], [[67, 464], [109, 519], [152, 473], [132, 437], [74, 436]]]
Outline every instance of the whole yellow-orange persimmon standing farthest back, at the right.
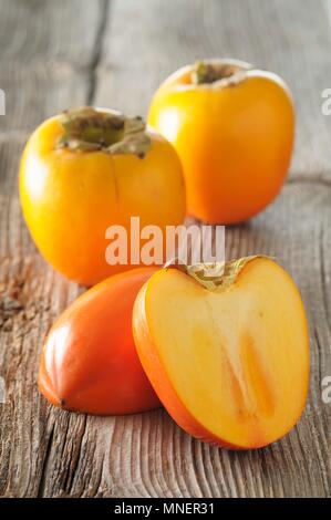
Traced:
[[241, 222], [279, 193], [289, 168], [294, 110], [276, 74], [236, 60], [185, 66], [156, 91], [148, 123], [176, 148], [188, 212]]

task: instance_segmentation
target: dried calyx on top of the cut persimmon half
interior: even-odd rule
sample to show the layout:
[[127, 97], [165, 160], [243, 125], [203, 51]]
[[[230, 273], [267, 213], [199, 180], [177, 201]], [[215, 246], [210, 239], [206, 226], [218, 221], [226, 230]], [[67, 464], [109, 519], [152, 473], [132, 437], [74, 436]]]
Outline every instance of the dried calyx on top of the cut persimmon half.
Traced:
[[174, 268], [192, 277], [196, 282], [208, 291], [221, 292], [232, 285], [244, 267], [256, 258], [271, 258], [265, 254], [252, 254], [228, 262], [195, 263], [186, 266], [177, 259], [170, 260], [165, 268]]

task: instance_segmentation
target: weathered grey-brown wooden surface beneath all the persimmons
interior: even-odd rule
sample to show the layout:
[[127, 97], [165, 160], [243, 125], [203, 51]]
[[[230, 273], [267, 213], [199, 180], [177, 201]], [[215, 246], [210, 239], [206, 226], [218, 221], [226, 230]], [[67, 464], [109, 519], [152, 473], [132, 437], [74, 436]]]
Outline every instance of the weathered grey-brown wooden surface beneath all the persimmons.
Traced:
[[[331, 117], [328, 3], [306, 0], [0, 0], [0, 496], [330, 496]], [[331, 9], [330, 9], [331, 11]], [[279, 72], [298, 108], [296, 155], [277, 201], [227, 230], [229, 258], [276, 256], [309, 315], [311, 388], [290, 435], [230, 453], [180, 430], [164, 410], [128, 417], [50, 406], [35, 377], [42, 340], [82, 290], [37, 252], [22, 221], [17, 173], [45, 117], [93, 103], [146, 114], [157, 84], [197, 58], [228, 55]], [[329, 83], [328, 83], [329, 82]]]

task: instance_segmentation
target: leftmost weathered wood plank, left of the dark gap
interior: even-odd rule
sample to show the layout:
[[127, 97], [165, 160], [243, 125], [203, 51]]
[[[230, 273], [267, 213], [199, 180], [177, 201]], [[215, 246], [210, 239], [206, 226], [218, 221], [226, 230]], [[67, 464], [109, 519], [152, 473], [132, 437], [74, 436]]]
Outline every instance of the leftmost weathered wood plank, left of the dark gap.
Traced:
[[[46, 489], [54, 417], [37, 391], [38, 353], [55, 315], [81, 290], [56, 275], [29, 238], [17, 190], [19, 157], [33, 127], [93, 95], [106, 9], [104, 0], [0, 2], [0, 85], [7, 94], [0, 117], [0, 375], [8, 391], [0, 405], [0, 496]], [[69, 422], [64, 416], [60, 436]]]

